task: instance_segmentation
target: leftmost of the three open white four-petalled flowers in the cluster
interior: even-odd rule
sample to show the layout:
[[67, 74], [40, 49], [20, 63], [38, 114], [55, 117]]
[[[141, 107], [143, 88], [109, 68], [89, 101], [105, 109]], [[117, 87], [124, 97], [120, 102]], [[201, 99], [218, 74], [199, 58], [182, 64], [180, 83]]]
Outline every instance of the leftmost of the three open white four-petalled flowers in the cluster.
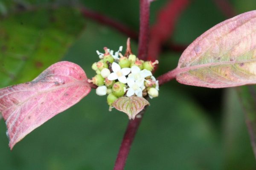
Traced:
[[116, 80], [118, 79], [119, 82], [127, 83], [127, 79], [125, 76], [127, 76], [131, 72], [131, 68], [122, 68], [119, 64], [116, 62], [112, 63], [112, 70], [113, 73], [109, 74], [108, 79], [109, 80]]

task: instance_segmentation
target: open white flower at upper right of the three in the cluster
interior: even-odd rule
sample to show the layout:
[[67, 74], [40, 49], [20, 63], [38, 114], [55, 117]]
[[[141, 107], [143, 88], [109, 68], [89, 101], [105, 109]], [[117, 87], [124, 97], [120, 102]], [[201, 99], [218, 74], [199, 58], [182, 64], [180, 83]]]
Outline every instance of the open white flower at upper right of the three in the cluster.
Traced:
[[128, 75], [128, 77], [133, 77], [135, 81], [138, 81], [140, 83], [143, 83], [145, 80], [145, 77], [152, 76], [151, 71], [148, 71], [146, 69], [140, 70], [138, 66], [132, 66], [131, 67], [131, 74]]

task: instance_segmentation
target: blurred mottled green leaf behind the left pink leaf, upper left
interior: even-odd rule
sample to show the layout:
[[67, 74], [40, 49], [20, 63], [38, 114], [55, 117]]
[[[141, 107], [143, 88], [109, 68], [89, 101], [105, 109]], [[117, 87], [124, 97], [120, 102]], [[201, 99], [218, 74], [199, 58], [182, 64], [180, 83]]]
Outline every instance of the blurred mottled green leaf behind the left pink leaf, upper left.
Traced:
[[0, 87], [27, 82], [57, 62], [84, 27], [73, 8], [19, 12], [0, 19]]

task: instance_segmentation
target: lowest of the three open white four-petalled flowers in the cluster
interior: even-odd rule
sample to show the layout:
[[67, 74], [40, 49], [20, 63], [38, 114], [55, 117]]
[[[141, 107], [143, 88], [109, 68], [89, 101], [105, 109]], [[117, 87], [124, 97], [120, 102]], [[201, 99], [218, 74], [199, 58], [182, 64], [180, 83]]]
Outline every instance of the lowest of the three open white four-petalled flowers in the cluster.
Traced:
[[129, 86], [126, 95], [128, 97], [136, 94], [138, 97], [142, 97], [142, 91], [145, 89], [144, 82], [136, 81], [133, 77], [127, 78], [127, 84]]

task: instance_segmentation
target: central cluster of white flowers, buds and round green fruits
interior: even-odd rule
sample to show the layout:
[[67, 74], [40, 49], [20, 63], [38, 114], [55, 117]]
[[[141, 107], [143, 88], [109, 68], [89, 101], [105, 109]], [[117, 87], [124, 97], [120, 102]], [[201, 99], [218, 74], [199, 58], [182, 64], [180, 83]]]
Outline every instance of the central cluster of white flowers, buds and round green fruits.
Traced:
[[107, 47], [104, 50], [104, 54], [96, 51], [100, 58], [99, 62], [92, 65], [96, 76], [88, 82], [98, 86], [96, 94], [99, 96], [108, 94], [110, 108], [113, 102], [122, 96], [158, 96], [158, 81], [151, 73], [154, 65], [158, 64], [157, 60], [143, 61], [131, 53], [125, 53], [123, 56], [120, 53], [122, 46], [115, 53]]

